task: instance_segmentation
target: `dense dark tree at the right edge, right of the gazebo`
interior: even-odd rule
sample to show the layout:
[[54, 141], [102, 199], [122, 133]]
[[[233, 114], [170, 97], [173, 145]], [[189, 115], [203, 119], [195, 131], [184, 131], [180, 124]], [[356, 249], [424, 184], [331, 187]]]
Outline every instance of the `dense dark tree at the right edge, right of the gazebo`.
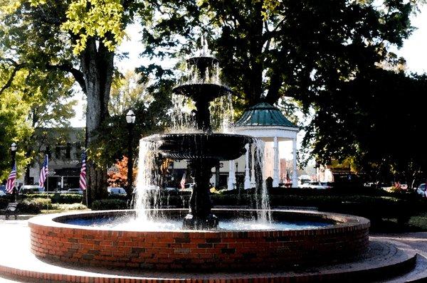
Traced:
[[417, 138], [426, 128], [426, 87], [426, 75], [381, 69], [343, 82], [333, 105], [313, 117], [307, 148], [324, 163], [353, 157], [373, 180], [411, 183], [427, 170], [427, 151]]

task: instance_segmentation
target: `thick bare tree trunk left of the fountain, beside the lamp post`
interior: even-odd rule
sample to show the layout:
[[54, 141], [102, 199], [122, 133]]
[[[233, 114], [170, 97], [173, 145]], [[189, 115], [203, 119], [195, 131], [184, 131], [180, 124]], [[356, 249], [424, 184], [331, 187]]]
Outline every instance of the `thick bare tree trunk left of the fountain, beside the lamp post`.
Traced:
[[[97, 47], [98, 46], [98, 47]], [[81, 55], [88, 105], [86, 108], [86, 147], [92, 148], [100, 125], [108, 117], [108, 100], [112, 82], [114, 53], [101, 43], [89, 39]], [[87, 162], [88, 205], [107, 196], [107, 171], [97, 168], [93, 159]]]

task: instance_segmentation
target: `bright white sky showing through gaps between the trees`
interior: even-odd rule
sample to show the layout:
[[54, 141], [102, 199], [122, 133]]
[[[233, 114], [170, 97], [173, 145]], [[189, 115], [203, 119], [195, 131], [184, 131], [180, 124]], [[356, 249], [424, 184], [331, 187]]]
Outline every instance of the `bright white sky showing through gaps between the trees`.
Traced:
[[[427, 5], [421, 7], [421, 12], [411, 17], [412, 26], [416, 27], [411, 36], [404, 41], [404, 46], [400, 50], [394, 52], [406, 59], [406, 67], [408, 72], [426, 73], [427, 72]], [[121, 71], [133, 70], [140, 65], [149, 63], [147, 59], [139, 58], [142, 45], [140, 43], [141, 35], [139, 34], [138, 24], [129, 26], [126, 30], [127, 39], [123, 41], [118, 48], [120, 53], [129, 53], [128, 58], [121, 61], [116, 60], [116, 65]], [[164, 62], [166, 65], [172, 66], [174, 62]], [[78, 87], [76, 87], [78, 89]], [[83, 119], [83, 107], [85, 105], [85, 97], [80, 91], [76, 91], [75, 99], [78, 100], [78, 105], [75, 107], [76, 116], [71, 119], [73, 127], [84, 127], [85, 120]], [[300, 139], [300, 138], [299, 138]], [[286, 158], [290, 156], [289, 147], [286, 152], [281, 152]]]

